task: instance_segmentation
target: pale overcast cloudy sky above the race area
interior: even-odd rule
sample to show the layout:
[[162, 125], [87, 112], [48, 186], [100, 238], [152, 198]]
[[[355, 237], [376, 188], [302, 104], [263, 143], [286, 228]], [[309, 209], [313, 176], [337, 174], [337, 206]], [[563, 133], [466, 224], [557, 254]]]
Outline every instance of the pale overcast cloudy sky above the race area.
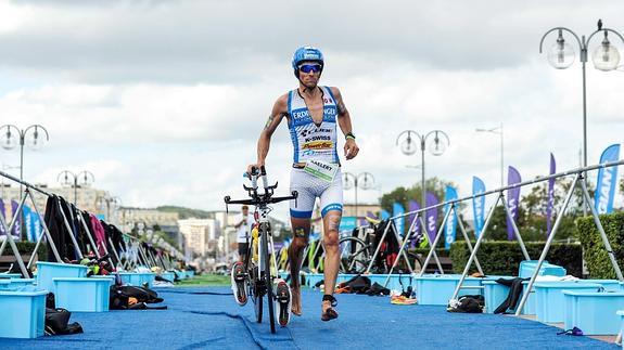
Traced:
[[[324, 53], [320, 83], [341, 90], [360, 146], [343, 171], [375, 179], [360, 203], [420, 181], [420, 155], [396, 146], [404, 130], [448, 134], [443, 155], [425, 154], [425, 176], [466, 196], [473, 176], [500, 184], [500, 138], [476, 128], [502, 124], [504, 166], [523, 179], [547, 174], [550, 152], [558, 170], [578, 167], [578, 56], [555, 69], [539, 40], [557, 26], [588, 36], [598, 18], [624, 33], [622, 13], [622, 1], [578, 0], [0, 0], [0, 126], [49, 131], [44, 147], [25, 150], [29, 182], [88, 170], [124, 206], [220, 210], [225, 195], [245, 195], [259, 131], [297, 86], [292, 54], [310, 44]], [[587, 64], [589, 164], [624, 139], [622, 91], [624, 69]], [[18, 151], [0, 148], [0, 161], [18, 173]], [[280, 194], [291, 163], [283, 122], [267, 158]], [[344, 195], [354, 200], [353, 190]], [[275, 213], [284, 219], [288, 205]]]

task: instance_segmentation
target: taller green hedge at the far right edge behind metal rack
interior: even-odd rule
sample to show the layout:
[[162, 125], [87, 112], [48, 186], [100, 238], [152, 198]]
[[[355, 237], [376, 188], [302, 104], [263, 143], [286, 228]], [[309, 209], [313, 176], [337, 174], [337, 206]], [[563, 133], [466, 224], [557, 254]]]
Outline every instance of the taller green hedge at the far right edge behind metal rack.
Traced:
[[[624, 269], [624, 212], [617, 211], [599, 216], [600, 223], [611, 244], [611, 249], [621, 269]], [[602, 243], [602, 237], [594, 223], [594, 217], [576, 219], [578, 239], [583, 246], [585, 262], [591, 278], [616, 278], [615, 271]]]

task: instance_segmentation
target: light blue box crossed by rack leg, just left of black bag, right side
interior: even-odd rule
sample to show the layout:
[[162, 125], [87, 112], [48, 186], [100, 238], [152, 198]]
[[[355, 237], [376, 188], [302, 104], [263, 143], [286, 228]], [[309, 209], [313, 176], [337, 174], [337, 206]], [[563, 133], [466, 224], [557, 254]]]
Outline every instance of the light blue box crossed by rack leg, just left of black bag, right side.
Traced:
[[[416, 295], [419, 304], [446, 306], [453, 297], [453, 293], [461, 278], [460, 274], [426, 274], [413, 277], [416, 282]], [[466, 277], [459, 296], [481, 295], [483, 278]], [[466, 288], [469, 287], [469, 288]]]

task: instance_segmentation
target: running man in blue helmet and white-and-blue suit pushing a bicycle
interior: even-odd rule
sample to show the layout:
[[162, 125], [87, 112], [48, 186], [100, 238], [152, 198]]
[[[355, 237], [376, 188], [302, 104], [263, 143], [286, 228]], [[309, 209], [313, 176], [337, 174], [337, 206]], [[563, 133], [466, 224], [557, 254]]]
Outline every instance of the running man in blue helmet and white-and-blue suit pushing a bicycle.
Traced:
[[[250, 165], [259, 168], [265, 165], [271, 135], [282, 119], [286, 119], [293, 143], [291, 191], [298, 192], [297, 200], [291, 200], [291, 224], [293, 241], [289, 249], [292, 313], [302, 314], [300, 269], [303, 251], [308, 243], [310, 218], [315, 199], [320, 198], [323, 221], [324, 295], [321, 304], [321, 320], [338, 317], [333, 297], [339, 271], [339, 225], [342, 218], [342, 177], [338, 153], [340, 126], [344, 134], [344, 157], [353, 159], [359, 152], [353, 134], [351, 115], [338, 88], [318, 86], [324, 59], [319, 49], [298, 48], [292, 60], [292, 68], [298, 87], [281, 95], [260, 133], [257, 144], [257, 161]], [[279, 295], [278, 285], [278, 295]]]

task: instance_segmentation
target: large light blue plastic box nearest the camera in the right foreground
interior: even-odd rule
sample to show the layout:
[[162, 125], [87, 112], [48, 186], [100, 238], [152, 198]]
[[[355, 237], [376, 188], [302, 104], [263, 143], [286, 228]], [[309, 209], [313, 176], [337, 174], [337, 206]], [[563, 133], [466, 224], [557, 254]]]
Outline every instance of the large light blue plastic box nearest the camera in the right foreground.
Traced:
[[565, 329], [578, 327], [584, 335], [616, 335], [617, 310], [624, 309], [624, 293], [563, 290]]

